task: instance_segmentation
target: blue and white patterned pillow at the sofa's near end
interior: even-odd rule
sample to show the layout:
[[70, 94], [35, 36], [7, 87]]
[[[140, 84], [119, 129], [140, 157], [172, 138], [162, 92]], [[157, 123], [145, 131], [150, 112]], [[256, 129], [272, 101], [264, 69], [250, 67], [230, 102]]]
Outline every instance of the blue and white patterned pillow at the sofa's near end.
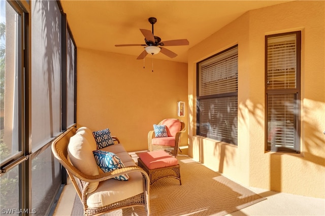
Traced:
[[[101, 150], [92, 151], [95, 157], [96, 163], [104, 172], [110, 172], [115, 169], [123, 168], [124, 164], [120, 158], [112, 152], [104, 152]], [[114, 177], [120, 181], [127, 181], [129, 179], [127, 174]]]

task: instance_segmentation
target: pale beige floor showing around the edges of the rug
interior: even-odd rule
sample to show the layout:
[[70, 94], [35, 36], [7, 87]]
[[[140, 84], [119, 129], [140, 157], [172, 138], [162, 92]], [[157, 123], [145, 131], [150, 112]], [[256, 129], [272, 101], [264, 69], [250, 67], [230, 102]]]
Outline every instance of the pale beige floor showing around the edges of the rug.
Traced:
[[[132, 156], [137, 160], [136, 155]], [[325, 215], [325, 199], [248, 189], [267, 199], [228, 215]], [[75, 197], [76, 191], [68, 179], [53, 215], [71, 215]]]

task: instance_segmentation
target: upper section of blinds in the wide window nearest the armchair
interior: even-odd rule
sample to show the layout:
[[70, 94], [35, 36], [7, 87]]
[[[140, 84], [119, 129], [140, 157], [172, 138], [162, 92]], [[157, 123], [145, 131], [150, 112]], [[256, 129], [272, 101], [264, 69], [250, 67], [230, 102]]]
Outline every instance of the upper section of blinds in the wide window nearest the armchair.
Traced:
[[199, 96], [237, 92], [238, 48], [200, 64]]

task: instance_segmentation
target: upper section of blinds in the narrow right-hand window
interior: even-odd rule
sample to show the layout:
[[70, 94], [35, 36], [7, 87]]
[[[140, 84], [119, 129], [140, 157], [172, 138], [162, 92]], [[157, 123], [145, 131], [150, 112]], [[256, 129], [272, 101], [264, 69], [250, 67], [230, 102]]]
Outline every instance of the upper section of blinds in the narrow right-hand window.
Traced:
[[296, 88], [297, 65], [296, 34], [268, 39], [267, 45], [267, 88]]

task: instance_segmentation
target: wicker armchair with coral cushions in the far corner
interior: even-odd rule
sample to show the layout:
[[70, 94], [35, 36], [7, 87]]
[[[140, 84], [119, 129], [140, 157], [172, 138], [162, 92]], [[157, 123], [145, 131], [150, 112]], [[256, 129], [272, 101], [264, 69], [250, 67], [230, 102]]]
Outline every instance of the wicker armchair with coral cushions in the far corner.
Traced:
[[176, 157], [178, 154], [181, 133], [185, 132], [185, 123], [179, 119], [164, 119], [159, 122], [158, 125], [166, 125], [168, 136], [156, 137], [154, 130], [149, 131], [149, 151], [165, 150]]

